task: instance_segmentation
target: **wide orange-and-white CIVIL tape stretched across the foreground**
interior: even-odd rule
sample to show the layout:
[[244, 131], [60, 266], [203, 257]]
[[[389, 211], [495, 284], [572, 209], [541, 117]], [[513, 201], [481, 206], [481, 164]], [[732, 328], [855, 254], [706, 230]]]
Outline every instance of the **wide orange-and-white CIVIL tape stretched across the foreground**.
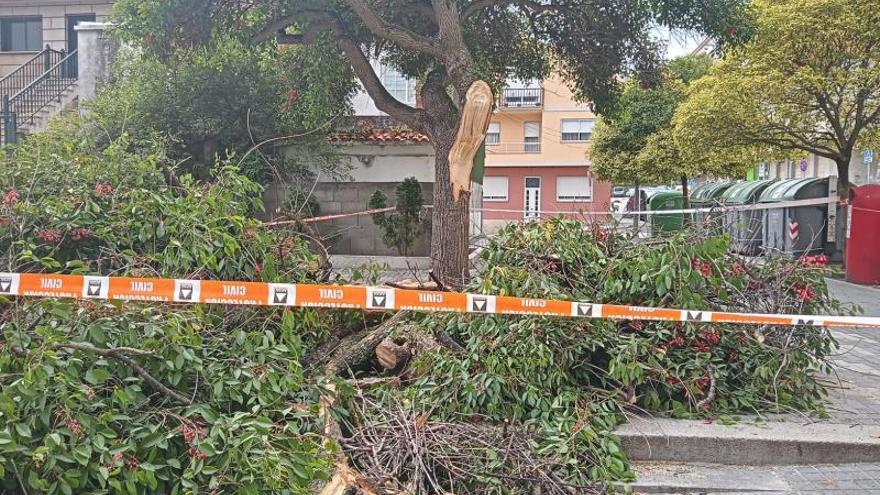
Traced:
[[732, 313], [355, 285], [0, 273], [0, 296], [880, 328], [880, 318]]

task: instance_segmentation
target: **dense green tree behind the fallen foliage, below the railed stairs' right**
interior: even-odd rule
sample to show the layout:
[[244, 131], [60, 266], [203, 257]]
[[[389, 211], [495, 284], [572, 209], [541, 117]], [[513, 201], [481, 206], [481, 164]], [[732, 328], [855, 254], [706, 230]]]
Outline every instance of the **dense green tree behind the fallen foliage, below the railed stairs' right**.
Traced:
[[[166, 136], [179, 171], [202, 178], [210, 176], [218, 156], [243, 156], [264, 140], [289, 135], [300, 136], [279, 141], [285, 147], [250, 153], [243, 170], [263, 183], [304, 173], [306, 163], [329, 172], [338, 164], [328, 122], [345, 107], [354, 80], [345, 70], [309, 70], [310, 52], [250, 46], [232, 37], [162, 57], [124, 50], [115, 67], [117, 82], [89, 104], [90, 118], [101, 134], [114, 139], [126, 133], [135, 147]], [[301, 135], [319, 126], [320, 132]]]

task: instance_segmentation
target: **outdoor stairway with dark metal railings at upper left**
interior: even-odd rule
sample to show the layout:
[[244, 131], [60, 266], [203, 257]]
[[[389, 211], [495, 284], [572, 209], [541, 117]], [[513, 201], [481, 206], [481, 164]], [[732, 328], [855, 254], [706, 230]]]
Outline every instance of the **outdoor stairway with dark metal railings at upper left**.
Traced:
[[46, 46], [0, 79], [0, 145], [16, 142], [60, 111], [78, 76], [76, 50], [65, 53]]

